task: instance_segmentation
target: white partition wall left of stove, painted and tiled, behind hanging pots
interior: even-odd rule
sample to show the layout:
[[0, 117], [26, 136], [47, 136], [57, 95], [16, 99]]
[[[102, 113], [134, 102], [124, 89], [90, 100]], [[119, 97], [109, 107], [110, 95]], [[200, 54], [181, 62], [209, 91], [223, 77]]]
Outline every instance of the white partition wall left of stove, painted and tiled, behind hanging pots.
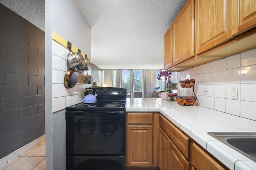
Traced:
[[[52, 31], [91, 55], [91, 28], [72, 0], [45, 0], [46, 169], [66, 169], [65, 107], [82, 101], [85, 85], [64, 87], [67, 50], [52, 40]], [[91, 72], [88, 72], [91, 74]], [[85, 74], [85, 73], [84, 73]]]

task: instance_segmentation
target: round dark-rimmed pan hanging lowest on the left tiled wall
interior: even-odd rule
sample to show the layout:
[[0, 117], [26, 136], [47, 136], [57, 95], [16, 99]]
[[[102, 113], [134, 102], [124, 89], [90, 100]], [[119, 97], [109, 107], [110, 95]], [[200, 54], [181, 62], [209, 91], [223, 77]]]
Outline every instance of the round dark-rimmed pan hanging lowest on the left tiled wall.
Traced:
[[78, 80], [78, 73], [73, 68], [69, 68], [64, 76], [64, 85], [66, 88], [73, 88], [76, 86]]

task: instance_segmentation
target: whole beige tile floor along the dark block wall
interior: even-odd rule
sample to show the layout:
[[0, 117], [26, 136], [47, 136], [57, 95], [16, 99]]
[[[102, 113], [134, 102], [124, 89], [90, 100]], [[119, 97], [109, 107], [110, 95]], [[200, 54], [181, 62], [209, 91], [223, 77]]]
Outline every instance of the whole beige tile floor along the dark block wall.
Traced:
[[27, 150], [0, 170], [45, 170], [45, 140]]

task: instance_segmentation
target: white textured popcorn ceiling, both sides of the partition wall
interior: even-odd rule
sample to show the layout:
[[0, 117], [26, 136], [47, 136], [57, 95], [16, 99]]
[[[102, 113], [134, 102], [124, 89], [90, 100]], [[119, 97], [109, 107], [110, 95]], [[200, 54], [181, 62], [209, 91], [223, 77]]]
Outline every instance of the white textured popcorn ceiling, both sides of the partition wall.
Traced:
[[[91, 27], [92, 63], [102, 69], [164, 67], [164, 33], [187, 0], [73, 0]], [[0, 0], [44, 29], [44, 0]]]

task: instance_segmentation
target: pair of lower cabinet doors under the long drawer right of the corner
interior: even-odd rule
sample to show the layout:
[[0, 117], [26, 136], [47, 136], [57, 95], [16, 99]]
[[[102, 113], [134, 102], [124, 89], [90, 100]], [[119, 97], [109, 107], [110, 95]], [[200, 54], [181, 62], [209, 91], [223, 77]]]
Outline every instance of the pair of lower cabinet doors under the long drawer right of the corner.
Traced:
[[159, 135], [159, 169], [189, 170], [190, 163], [160, 127]]

